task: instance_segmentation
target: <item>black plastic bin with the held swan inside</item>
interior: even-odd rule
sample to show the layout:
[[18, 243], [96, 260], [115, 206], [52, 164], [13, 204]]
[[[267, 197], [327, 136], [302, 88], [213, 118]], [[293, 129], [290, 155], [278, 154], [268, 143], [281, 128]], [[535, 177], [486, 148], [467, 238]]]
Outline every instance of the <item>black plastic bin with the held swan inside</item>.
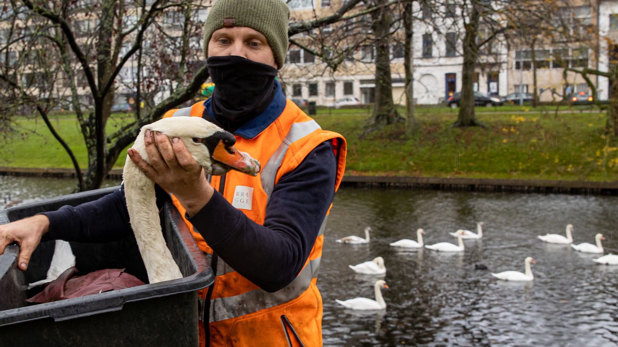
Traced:
[[[64, 205], [78, 205], [118, 189], [70, 194], [0, 211], [0, 224]], [[46, 277], [54, 242], [41, 243], [28, 270], [17, 269], [18, 246], [0, 256], [0, 346], [197, 346], [197, 291], [214, 282], [206, 258], [167, 204], [161, 224], [174, 260], [184, 275], [177, 280], [109, 291], [46, 304], [28, 304], [27, 284]], [[71, 243], [82, 274], [122, 269], [148, 283], [135, 238], [109, 243]]]

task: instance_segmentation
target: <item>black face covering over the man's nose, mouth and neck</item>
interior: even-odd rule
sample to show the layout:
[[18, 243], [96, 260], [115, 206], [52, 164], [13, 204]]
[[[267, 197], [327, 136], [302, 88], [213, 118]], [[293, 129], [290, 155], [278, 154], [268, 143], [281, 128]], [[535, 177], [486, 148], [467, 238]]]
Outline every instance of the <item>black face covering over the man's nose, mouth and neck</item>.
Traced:
[[206, 59], [214, 83], [214, 118], [228, 131], [266, 110], [273, 101], [277, 69], [239, 56]]

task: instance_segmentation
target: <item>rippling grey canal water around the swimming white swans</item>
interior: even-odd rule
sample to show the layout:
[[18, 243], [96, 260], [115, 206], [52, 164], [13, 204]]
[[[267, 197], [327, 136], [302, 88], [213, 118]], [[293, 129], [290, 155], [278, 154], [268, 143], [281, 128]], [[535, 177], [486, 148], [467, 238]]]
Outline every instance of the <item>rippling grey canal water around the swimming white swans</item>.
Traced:
[[[106, 182], [114, 185], [118, 182]], [[67, 194], [70, 180], [0, 177], [4, 200]], [[4, 199], [4, 200], [3, 200]], [[325, 346], [590, 346], [618, 345], [618, 266], [598, 265], [594, 254], [568, 245], [541, 243], [536, 235], [562, 233], [574, 225], [575, 243], [607, 238], [606, 253], [618, 254], [618, 198], [560, 194], [471, 193], [342, 189], [324, 234], [318, 287], [324, 301]], [[416, 238], [456, 242], [448, 234], [475, 230], [483, 239], [465, 241], [462, 254], [422, 249], [400, 251], [389, 243]], [[368, 245], [336, 243], [373, 228]], [[335, 299], [373, 299], [378, 277], [348, 268], [384, 257], [381, 312], [350, 311]], [[489, 273], [523, 272], [534, 257], [531, 283], [496, 281]], [[484, 264], [489, 270], [475, 270]]]

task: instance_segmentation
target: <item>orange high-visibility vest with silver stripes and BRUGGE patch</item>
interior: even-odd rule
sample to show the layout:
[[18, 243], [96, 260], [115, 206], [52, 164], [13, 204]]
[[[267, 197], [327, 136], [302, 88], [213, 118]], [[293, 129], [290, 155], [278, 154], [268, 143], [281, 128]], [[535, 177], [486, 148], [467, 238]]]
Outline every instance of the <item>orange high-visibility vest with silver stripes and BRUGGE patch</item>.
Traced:
[[[164, 118], [201, 117], [203, 112], [203, 102], [198, 102], [191, 107], [167, 111]], [[256, 177], [230, 171], [224, 177], [213, 176], [211, 185], [257, 224], [264, 224], [266, 203], [279, 178], [294, 170], [324, 141], [333, 144], [338, 167], [336, 184], [332, 188], [335, 191], [339, 188], [345, 169], [344, 137], [322, 130], [290, 100], [281, 115], [258, 136], [248, 140], [235, 137], [235, 148], [259, 158], [261, 171]], [[297, 277], [286, 288], [268, 293], [213, 256], [213, 249], [185, 219], [185, 208], [173, 195], [172, 201], [198, 246], [206, 253], [216, 276], [212, 286], [198, 293], [200, 309], [208, 310], [205, 314], [199, 312], [200, 320], [208, 319], [200, 324], [200, 346], [299, 346], [298, 339], [307, 347], [322, 345], [322, 298], [316, 280], [326, 217]]]

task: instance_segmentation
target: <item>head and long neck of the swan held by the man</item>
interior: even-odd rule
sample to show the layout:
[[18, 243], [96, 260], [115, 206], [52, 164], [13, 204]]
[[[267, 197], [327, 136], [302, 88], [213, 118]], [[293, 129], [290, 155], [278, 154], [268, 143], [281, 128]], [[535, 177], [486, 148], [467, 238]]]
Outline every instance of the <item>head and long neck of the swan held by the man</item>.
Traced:
[[[260, 164], [255, 159], [233, 147], [236, 141], [234, 135], [201, 117], [170, 117], [142, 127], [132, 148], [148, 164], [150, 159], [146, 153], [143, 135], [146, 130], [163, 133], [169, 138], [180, 138], [206, 174], [222, 175], [234, 169], [255, 176], [260, 171]], [[148, 272], [149, 282], [182, 277], [161, 232], [155, 202], [155, 183], [129, 156], [124, 164], [122, 178], [131, 227]]]

